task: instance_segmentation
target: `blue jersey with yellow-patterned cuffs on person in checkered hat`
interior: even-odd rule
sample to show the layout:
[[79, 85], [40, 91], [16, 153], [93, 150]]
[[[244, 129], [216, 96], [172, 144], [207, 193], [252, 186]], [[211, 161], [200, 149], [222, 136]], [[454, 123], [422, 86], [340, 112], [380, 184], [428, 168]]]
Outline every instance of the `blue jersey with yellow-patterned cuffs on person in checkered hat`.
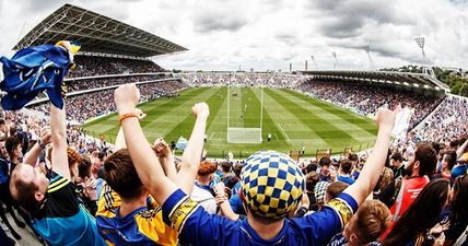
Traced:
[[194, 246], [308, 246], [326, 245], [330, 242], [356, 209], [355, 200], [342, 192], [320, 211], [303, 218], [284, 219], [280, 233], [274, 238], [266, 241], [250, 227], [247, 220], [231, 221], [220, 215], [208, 214], [178, 189], [164, 202], [163, 219], [180, 233], [180, 238]]

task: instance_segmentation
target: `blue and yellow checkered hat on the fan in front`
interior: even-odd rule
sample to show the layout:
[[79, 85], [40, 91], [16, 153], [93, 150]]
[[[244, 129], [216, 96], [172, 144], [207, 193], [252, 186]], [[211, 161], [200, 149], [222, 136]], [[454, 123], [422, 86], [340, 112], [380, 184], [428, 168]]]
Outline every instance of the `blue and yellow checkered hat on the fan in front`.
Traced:
[[290, 156], [259, 151], [246, 160], [241, 187], [248, 209], [269, 219], [284, 218], [305, 190], [304, 175]]

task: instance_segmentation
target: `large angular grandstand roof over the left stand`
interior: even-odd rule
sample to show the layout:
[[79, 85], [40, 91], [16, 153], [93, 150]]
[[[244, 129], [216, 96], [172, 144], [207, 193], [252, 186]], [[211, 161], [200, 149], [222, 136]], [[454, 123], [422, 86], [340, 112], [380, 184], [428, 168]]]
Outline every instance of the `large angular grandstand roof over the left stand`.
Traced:
[[132, 57], [187, 50], [145, 31], [68, 3], [36, 25], [13, 49], [63, 39], [79, 42], [81, 51]]

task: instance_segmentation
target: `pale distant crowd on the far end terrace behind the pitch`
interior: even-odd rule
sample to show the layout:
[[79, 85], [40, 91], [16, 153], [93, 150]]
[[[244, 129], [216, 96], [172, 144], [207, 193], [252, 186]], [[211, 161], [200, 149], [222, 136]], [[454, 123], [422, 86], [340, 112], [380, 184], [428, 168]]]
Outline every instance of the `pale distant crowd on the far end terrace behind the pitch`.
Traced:
[[197, 72], [178, 73], [177, 77], [184, 79], [186, 83], [192, 86], [200, 85], [242, 85], [242, 86], [273, 86], [273, 87], [294, 87], [295, 84], [304, 82], [306, 77], [284, 73], [222, 73], [222, 72]]

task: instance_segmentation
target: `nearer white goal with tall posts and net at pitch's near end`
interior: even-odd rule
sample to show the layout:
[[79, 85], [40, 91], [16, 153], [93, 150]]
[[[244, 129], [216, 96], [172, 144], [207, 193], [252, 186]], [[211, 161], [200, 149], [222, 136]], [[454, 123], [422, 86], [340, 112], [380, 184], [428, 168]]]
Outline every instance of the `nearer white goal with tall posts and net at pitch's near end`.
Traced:
[[227, 87], [227, 143], [261, 143], [262, 90]]

